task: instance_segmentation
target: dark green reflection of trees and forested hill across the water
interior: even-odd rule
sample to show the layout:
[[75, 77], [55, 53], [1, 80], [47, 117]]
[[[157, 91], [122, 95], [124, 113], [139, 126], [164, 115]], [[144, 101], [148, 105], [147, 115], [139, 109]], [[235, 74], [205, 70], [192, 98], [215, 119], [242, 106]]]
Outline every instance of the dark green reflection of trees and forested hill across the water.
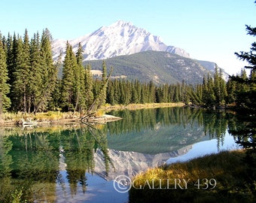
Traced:
[[[228, 111], [157, 108], [113, 111], [111, 114], [122, 117], [123, 120], [98, 126], [76, 123], [71, 126], [24, 130], [0, 129], [0, 201], [11, 202], [16, 198], [29, 202], [53, 202], [56, 201], [56, 183], [62, 186], [64, 194], [86, 193], [86, 173], [95, 172], [96, 150], [100, 150], [104, 157], [103, 177], [108, 177], [110, 168], [115, 170], [108, 155], [108, 142], [112, 139], [120, 147], [130, 144], [129, 146], [137, 149], [140, 147], [139, 150], [142, 151], [147, 145], [152, 148], [159, 143], [160, 148], [152, 150], [154, 153], [177, 150], [177, 144], [181, 140], [186, 144], [194, 144], [202, 135], [217, 138], [218, 145], [221, 146], [227, 129], [239, 141], [247, 141], [234, 131], [239, 130], [239, 117]], [[251, 125], [246, 120], [242, 123], [247, 127]], [[169, 134], [169, 129], [172, 129], [175, 136]], [[154, 133], [148, 136], [144, 133], [148, 130]], [[124, 135], [127, 135], [128, 140]], [[249, 140], [254, 139], [253, 136]], [[175, 147], [170, 146], [169, 141]], [[65, 177], [62, 171], [66, 171]], [[66, 186], [65, 180], [69, 186]]]

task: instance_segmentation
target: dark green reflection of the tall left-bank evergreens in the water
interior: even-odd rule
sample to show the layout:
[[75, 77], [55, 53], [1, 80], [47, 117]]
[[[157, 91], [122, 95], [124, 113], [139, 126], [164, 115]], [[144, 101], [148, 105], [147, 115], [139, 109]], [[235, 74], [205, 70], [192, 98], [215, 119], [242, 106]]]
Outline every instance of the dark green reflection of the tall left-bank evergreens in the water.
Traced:
[[[104, 129], [80, 127], [23, 129], [22, 132], [19, 128], [20, 133], [11, 132], [11, 135], [1, 136], [0, 201], [56, 201], [56, 181], [65, 186], [64, 178], [69, 181], [72, 195], [77, 193], [78, 183], [85, 192], [86, 173], [93, 173], [95, 168], [95, 146], [102, 150], [105, 160], [108, 160], [106, 170], [111, 160]], [[59, 151], [62, 149], [60, 146], [65, 150]], [[59, 169], [63, 156], [67, 177], [62, 177]]]

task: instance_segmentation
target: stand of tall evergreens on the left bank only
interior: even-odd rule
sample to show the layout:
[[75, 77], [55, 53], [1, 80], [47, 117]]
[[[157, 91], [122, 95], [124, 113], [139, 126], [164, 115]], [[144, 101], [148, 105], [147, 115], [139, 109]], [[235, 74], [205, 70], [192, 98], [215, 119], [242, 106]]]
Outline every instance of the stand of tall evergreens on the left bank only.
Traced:
[[75, 54], [67, 43], [60, 79], [62, 56], [53, 62], [51, 40], [47, 29], [30, 40], [27, 30], [23, 37], [0, 35], [0, 113], [37, 113], [57, 108], [83, 111], [93, 102], [93, 77], [90, 65], [82, 65], [81, 46]]

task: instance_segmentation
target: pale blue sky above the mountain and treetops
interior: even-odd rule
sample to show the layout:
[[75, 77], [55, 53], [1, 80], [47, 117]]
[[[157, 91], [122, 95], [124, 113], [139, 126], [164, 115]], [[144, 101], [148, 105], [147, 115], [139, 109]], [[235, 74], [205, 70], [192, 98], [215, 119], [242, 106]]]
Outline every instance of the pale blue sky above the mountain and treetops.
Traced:
[[248, 51], [255, 39], [245, 24], [256, 26], [254, 0], [2, 0], [0, 31], [73, 39], [124, 20], [181, 47], [191, 58], [216, 62], [229, 74], [245, 63], [234, 52]]

